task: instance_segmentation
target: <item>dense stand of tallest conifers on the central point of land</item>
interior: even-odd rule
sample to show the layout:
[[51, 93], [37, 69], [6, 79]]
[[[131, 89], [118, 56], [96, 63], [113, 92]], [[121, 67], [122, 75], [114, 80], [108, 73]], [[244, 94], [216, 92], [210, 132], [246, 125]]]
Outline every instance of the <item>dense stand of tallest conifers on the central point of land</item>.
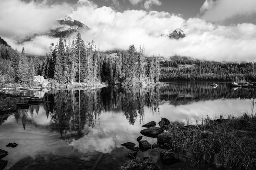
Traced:
[[[116, 54], [116, 55], [113, 55]], [[108, 82], [132, 84], [143, 81], [158, 82], [160, 62], [156, 57], [146, 58], [144, 48], [136, 51], [130, 45], [127, 51], [100, 52], [94, 41], [84, 43], [80, 33], [72, 43], [60, 38], [50, 45], [50, 54], [43, 62], [42, 76], [58, 83]]]

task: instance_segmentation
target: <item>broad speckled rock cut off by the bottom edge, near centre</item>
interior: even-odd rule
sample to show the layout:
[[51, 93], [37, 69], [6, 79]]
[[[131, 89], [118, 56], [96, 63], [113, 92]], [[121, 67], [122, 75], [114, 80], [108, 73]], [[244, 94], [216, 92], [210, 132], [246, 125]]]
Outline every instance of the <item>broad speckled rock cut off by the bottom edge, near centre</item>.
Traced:
[[118, 170], [159, 170], [159, 168], [148, 157], [128, 160], [118, 167]]

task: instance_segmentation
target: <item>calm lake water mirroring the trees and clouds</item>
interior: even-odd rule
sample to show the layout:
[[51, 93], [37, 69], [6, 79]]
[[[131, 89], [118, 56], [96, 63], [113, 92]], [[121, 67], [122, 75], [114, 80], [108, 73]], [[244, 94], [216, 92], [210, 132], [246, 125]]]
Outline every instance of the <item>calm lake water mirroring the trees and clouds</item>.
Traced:
[[[9, 152], [10, 168], [25, 156], [75, 155], [86, 160], [94, 153], [115, 153], [120, 144], [133, 142], [149, 121], [201, 121], [202, 117], [254, 113], [254, 90], [230, 89], [226, 83], [170, 83], [164, 87], [24, 91], [45, 104], [33, 105], [0, 119], [0, 149]], [[14, 92], [14, 93], [20, 93]], [[144, 137], [149, 143], [157, 139]], [[18, 143], [7, 148], [8, 143]], [[116, 151], [120, 152], [120, 151]], [[159, 154], [143, 152], [161, 168]], [[170, 167], [169, 167], [170, 168]]]

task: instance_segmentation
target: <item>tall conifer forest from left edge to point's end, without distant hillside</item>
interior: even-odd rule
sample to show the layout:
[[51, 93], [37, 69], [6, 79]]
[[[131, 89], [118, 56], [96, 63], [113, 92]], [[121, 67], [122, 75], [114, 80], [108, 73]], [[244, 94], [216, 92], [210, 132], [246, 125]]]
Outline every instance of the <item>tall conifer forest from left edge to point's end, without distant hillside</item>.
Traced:
[[94, 41], [85, 43], [78, 33], [72, 42], [60, 37], [56, 45], [51, 43], [49, 53], [42, 60], [38, 56], [26, 56], [24, 48], [19, 54], [6, 42], [1, 45], [2, 84], [17, 82], [33, 86], [36, 75], [59, 84], [106, 82], [136, 86], [159, 81], [159, 57], [145, 57], [142, 46], [138, 51], [130, 45], [126, 51], [102, 52]]

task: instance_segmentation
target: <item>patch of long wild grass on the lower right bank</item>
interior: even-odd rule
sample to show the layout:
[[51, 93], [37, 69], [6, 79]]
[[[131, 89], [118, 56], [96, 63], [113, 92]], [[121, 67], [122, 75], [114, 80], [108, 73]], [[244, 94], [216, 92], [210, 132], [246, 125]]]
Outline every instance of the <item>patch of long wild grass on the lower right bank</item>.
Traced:
[[256, 115], [244, 113], [227, 118], [206, 117], [200, 125], [174, 122], [168, 129], [173, 139], [166, 145], [176, 153], [192, 153], [198, 162], [225, 169], [255, 169]]

